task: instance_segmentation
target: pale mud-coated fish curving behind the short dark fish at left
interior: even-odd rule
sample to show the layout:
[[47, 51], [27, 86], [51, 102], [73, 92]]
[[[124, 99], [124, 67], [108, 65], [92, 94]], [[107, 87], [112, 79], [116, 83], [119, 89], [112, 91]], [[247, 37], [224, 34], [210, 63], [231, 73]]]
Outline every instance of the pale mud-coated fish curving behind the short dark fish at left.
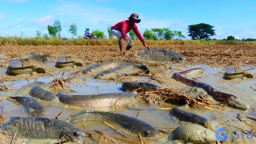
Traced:
[[38, 86], [44, 89], [49, 89], [50, 87], [44, 82], [35, 81], [33, 83], [27, 84], [21, 87], [13, 96], [29, 96], [29, 91], [33, 86]]

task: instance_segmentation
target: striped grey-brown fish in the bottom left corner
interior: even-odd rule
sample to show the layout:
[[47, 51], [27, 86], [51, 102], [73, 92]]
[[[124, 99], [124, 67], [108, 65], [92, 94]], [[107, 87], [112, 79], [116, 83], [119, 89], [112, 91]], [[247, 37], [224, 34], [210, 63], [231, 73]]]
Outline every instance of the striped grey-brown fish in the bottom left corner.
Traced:
[[[68, 133], [75, 140], [80, 141], [86, 134], [73, 124], [53, 118], [45, 117], [11, 117], [1, 129], [11, 136], [23, 139], [59, 139]], [[69, 139], [69, 137], [64, 137]]]

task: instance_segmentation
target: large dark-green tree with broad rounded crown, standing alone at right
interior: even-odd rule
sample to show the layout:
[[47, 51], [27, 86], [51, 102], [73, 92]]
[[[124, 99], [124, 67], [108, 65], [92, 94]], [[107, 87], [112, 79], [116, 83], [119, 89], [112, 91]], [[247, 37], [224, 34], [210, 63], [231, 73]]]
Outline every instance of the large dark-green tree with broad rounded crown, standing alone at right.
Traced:
[[192, 40], [195, 39], [210, 39], [210, 36], [215, 36], [215, 30], [212, 29], [213, 26], [205, 23], [200, 23], [196, 25], [188, 26], [188, 36], [191, 36]]

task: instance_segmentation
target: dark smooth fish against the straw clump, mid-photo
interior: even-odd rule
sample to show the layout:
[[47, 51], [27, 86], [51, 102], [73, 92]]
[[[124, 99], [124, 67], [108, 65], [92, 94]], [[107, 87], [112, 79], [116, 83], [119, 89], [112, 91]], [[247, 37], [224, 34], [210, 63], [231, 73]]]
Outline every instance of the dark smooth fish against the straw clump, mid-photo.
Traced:
[[147, 82], [130, 82], [130, 83], [123, 83], [122, 84], [122, 89], [124, 91], [133, 91], [135, 89], [141, 88], [139, 90], [137, 90], [137, 92], [148, 92], [150, 90], [159, 90], [160, 87], [157, 86], [156, 84], [151, 84], [151, 83], [147, 83]]

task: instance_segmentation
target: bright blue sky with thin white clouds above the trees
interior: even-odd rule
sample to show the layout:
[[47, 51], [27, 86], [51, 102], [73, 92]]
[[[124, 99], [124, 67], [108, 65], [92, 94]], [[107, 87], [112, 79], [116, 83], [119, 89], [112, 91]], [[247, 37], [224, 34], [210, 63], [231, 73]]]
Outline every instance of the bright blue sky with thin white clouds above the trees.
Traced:
[[37, 30], [48, 34], [47, 25], [55, 20], [61, 23], [61, 37], [72, 38], [72, 23], [77, 36], [85, 28], [107, 35], [108, 26], [133, 12], [141, 19], [141, 33], [170, 28], [191, 39], [188, 25], [206, 23], [214, 26], [216, 36], [211, 38], [256, 38], [256, 0], [0, 0], [0, 36], [35, 37]]

